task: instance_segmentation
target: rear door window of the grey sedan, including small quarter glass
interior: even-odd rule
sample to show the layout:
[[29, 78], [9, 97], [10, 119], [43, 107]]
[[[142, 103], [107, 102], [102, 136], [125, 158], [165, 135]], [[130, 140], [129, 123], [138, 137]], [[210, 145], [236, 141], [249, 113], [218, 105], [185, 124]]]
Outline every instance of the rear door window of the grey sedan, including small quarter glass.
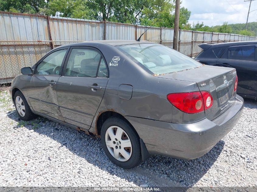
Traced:
[[[99, 71], [97, 72], [99, 62], [100, 66]], [[65, 76], [108, 77], [108, 72], [106, 64], [99, 52], [93, 49], [78, 48], [71, 50], [65, 70]]]

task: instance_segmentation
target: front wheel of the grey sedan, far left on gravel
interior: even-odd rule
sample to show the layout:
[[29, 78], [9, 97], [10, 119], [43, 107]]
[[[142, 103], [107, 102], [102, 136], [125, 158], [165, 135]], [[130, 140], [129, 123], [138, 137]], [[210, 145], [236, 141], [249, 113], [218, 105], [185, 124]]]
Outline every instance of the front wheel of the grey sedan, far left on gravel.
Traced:
[[16, 91], [14, 94], [14, 105], [16, 108], [16, 112], [18, 116], [24, 120], [29, 121], [36, 117], [34, 113], [30, 110], [30, 106], [27, 103], [24, 95], [21, 93], [21, 91]]

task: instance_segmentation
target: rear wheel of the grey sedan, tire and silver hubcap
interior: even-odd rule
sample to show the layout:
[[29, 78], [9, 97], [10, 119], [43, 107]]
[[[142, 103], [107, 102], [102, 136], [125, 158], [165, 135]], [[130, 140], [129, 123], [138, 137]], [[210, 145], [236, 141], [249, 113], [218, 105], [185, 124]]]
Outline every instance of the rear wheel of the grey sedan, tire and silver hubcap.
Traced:
[[119, 167], [131, 169], [141, 162], [139, 136], [119, 117], [110, 117], [102, 125], [101, 142], [109, 159]]

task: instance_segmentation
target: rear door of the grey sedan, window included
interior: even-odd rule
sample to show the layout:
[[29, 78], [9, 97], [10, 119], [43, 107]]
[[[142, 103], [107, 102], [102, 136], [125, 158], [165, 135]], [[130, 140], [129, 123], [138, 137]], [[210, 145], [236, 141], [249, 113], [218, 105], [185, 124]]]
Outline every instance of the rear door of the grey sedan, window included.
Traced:
[[64, 121], [88, 130], [108, 80], [108, 67], [98, 49], [72, 47], [57, 85]]

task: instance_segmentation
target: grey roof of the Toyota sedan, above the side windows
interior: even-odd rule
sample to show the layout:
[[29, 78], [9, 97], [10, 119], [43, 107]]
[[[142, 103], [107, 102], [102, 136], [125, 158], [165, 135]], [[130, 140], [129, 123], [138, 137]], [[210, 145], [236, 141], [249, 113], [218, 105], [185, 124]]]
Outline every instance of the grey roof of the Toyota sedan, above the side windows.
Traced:
[[92, 46], [92, 45], [99, 45], [99, 44], [107, 44], [112, 46], [118, 46], [118, 45], [131, 45], [131, 44], [142, 44], [142, 43], [154, 43], [154, 42], [148, 42], [148, 41], [136, 41], [136, 40], [100, 40], [100, 41], [85, 41], [85, 42], [79, 42], [79, 43], [71, 43], [67, 45], [62, 45], [60, 47], [68, 47], [68, 46]]

